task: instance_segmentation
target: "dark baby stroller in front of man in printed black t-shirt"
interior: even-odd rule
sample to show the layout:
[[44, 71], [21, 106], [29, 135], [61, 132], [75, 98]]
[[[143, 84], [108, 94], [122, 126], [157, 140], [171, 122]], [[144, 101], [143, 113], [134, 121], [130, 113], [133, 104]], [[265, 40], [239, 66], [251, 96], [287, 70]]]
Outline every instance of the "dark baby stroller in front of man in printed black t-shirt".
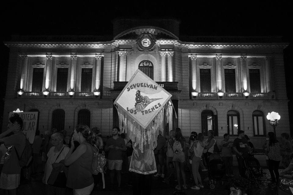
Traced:
[[246, 168], [245, 176], [254, 184], [255, 188], [259, 188], [261, 184], [269, 185], [271, 188], [275, 187], [275, 184], [270, 183], [262, 172], [259, 161], [255, 157], [249, 156], [246, 161], [244, 161], [244, 165]]

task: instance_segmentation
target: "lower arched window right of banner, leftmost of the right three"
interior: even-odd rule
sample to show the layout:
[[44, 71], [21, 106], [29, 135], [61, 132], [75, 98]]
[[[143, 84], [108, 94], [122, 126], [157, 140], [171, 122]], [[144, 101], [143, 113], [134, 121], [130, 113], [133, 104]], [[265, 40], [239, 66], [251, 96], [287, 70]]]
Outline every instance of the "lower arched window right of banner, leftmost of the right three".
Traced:
[[215, 136], [218, 136], [218, 116], [214, 115], [212, 110], [201, 112], [201, 132], [206, 136], [208, 130], [213, 130]]

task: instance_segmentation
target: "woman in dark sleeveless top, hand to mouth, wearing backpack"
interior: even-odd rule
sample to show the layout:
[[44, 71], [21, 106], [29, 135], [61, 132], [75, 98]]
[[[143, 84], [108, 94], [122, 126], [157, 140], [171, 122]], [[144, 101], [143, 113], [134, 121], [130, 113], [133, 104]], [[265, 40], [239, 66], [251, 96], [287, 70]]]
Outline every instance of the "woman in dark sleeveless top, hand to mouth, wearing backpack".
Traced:
[[[87, 125], [77, 125], [71, 139], [71, 147], [64, 164], [69, 166], [66, 186], [74, 190], [75, 195], [90, 194], [94, 188], [92, 161], [96, 143], [96, 134], [91, 133]], [[80, 144], [74, 150], [74, 141]]]

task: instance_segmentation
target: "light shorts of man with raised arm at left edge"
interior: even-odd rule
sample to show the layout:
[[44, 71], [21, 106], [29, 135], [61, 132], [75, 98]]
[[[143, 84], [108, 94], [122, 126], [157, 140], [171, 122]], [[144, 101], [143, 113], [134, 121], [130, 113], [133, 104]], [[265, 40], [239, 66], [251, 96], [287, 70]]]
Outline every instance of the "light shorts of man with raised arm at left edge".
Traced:
[[0, 188], [5, 190], [13, 190], [19, 186], [20, 174], [5, 174], [0, 175]]

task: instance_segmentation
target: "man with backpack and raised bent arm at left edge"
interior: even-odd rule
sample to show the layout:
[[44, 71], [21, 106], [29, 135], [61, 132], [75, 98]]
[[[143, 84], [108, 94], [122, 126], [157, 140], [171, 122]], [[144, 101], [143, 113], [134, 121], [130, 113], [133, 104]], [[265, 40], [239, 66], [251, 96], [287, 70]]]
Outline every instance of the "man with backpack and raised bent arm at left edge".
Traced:
[[[4, 164], [0, 175], [0, 188], [8, 191], [9, 195], [17, 194], [17, 187], [20, 184], [19, 156], [22, 155], [26, 144], [26, 136], [22, 133], [23, 121], [18, 114], [9, 118], [8, 130], [0, 135], [0, 143], [3, 142], [7, 151], [4, 157]], [[13, 135], [4, 137], [13, 132]]]

